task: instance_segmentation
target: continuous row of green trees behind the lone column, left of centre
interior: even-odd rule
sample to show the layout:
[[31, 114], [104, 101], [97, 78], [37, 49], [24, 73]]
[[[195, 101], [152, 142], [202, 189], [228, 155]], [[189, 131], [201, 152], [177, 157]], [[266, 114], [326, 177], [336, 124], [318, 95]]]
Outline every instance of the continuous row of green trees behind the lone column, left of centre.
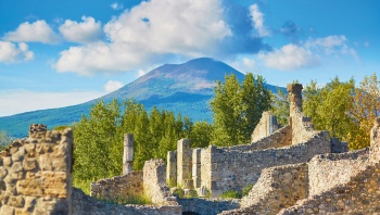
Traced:
[[[187, 116], [182, 122], [180, 114], [176, 118], [173, 112], [156, 108], [148, 114], [143, 105], [134, 100], [122, 105], [123, 114], [116, 100], [109, 104], [100, 101], [92, 106], [89, 116], [83, 116], [74, 126], [74, 179], [77, 185], [122, 174], [124, 134], [134, 134], [134, 169], [138, 170], [152, 157], [166, 160], [167, 151], [175, 150], [177, 140], [186, 138], [192, 129]], [[203, 136], [195, 134], [194, 137]]]

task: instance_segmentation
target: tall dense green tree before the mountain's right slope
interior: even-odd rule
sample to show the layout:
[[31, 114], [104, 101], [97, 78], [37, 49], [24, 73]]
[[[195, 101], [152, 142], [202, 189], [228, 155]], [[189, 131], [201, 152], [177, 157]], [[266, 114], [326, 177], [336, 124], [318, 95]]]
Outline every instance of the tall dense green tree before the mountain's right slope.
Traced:
[[248, 74], [242, 85], [232, 74], [217, 81], [211, 108], [214, 112], [212, 143], [235, 146], [246, 143], [262, 113], [270, 109], [270, 91], [262, 76]]

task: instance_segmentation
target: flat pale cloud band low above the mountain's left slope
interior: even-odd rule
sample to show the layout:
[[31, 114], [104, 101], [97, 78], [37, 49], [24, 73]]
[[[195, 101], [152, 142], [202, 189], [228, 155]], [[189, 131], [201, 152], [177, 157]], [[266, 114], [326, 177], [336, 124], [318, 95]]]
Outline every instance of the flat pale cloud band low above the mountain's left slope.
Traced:
[[0, 116], [75, 105], [103, 94], [104, 92], [96, 91], [36, 92], [29, 90], [0, 90]]

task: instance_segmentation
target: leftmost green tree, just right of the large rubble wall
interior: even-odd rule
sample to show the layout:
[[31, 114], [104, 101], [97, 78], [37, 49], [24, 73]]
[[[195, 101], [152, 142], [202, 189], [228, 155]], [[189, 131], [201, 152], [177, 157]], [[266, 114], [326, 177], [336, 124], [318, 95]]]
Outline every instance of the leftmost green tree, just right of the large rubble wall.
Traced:
[[119, 121], [117, 101], [92, 106], [90, 115], [83, 116], [75, 127], [74, 177], [83, 180], [99, 179], [112, 175], [110, 153], [115, 143]]

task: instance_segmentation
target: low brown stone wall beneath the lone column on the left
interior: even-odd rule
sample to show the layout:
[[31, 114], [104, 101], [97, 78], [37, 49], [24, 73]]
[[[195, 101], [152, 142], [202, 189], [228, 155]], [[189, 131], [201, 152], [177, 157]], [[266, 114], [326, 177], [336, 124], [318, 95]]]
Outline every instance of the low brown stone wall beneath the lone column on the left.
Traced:
[[91, 197], [106, 201], [141, 197], [142, 176], [142, 172], [131, 172], [91, 182]]

